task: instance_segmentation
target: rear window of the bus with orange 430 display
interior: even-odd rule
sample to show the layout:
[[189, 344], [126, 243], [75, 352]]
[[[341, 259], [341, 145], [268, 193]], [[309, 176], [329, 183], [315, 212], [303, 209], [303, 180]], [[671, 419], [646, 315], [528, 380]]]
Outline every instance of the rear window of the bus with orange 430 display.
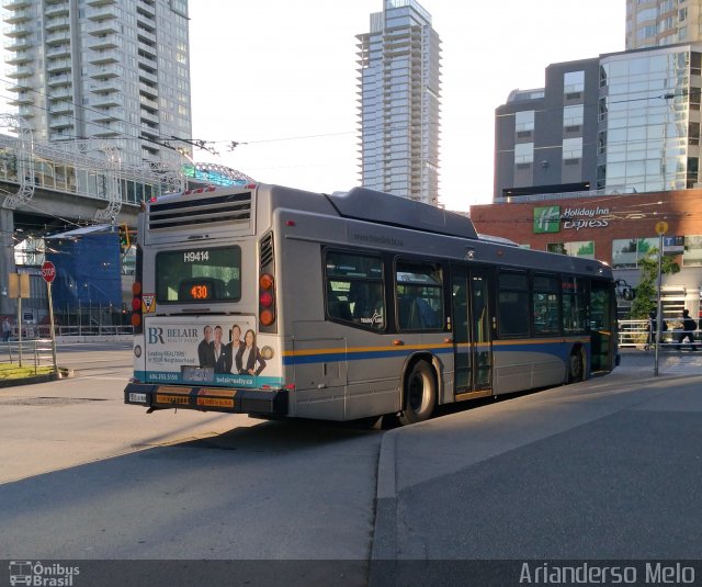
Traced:
[[156, 255], [157, 303], [236, 302], [240, 297], [239, 247], [197, 247]]

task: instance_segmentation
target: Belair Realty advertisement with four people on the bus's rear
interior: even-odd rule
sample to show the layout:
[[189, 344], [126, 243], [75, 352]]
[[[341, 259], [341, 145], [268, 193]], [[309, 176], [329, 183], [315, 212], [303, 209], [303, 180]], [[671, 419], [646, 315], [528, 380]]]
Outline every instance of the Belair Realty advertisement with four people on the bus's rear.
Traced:
[[145, 325], [145, 381], [235, 387], [280, 385], [278, 341], [259, 336], [254, 325], [253, 316], [152, 317]]

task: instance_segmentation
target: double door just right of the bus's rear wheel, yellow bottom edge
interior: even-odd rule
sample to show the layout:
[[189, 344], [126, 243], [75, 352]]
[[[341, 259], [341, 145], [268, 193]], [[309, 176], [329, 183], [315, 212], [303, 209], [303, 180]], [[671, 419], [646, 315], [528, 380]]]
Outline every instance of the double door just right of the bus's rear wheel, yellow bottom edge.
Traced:
[[452, 268], [454, 393], [456, 399], [492, 393], [492, 340], [487, 271]]

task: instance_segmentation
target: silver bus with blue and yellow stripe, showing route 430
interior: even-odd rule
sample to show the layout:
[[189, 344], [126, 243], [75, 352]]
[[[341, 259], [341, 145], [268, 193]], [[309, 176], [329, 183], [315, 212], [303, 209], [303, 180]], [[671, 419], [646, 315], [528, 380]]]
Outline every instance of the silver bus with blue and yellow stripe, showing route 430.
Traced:
[[355, 188], [202, 188], [138, 221], [134, 376], [148, 408], [403, 424], [618, 362], [610, 268], [482, 237]]

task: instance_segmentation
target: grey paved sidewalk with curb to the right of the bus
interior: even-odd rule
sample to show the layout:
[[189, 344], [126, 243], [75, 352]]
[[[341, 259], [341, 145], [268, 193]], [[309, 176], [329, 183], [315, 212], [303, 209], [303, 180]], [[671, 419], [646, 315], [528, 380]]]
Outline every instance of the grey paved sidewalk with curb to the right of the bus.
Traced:
[[658, 368], [624, 351], [609, 375], [388, 431], [371, 584], [446, 585], [446, 560], [699, 558], [702, 352]]

